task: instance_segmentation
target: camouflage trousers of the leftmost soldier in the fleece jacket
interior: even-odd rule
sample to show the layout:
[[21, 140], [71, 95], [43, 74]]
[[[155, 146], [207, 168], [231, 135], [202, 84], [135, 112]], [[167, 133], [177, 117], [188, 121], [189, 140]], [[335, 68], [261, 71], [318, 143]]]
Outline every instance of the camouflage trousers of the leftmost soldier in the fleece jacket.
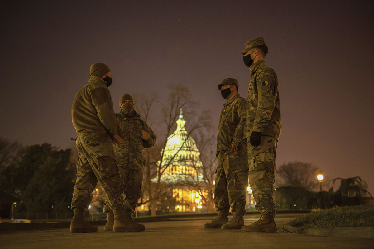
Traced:
[[73, 211], [88, 211], [98, 181], [108, 206], [113, 210], [124, 209], [116, 157], [109, 136], [105, 133], [78, 135], [76, 146], [78, 162], [71, 200]]

